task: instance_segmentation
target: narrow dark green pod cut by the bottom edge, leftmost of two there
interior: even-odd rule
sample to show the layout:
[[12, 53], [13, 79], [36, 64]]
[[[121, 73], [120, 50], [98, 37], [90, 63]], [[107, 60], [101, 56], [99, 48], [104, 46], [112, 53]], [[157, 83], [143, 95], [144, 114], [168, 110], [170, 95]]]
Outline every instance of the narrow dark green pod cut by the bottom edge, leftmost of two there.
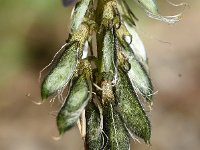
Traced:
[[93, 102], [89, 102], [85, 111], [86, 117], [86, 138], [87, 150], [100, 150], [102, 147], [101, 119], [98, 108]]

